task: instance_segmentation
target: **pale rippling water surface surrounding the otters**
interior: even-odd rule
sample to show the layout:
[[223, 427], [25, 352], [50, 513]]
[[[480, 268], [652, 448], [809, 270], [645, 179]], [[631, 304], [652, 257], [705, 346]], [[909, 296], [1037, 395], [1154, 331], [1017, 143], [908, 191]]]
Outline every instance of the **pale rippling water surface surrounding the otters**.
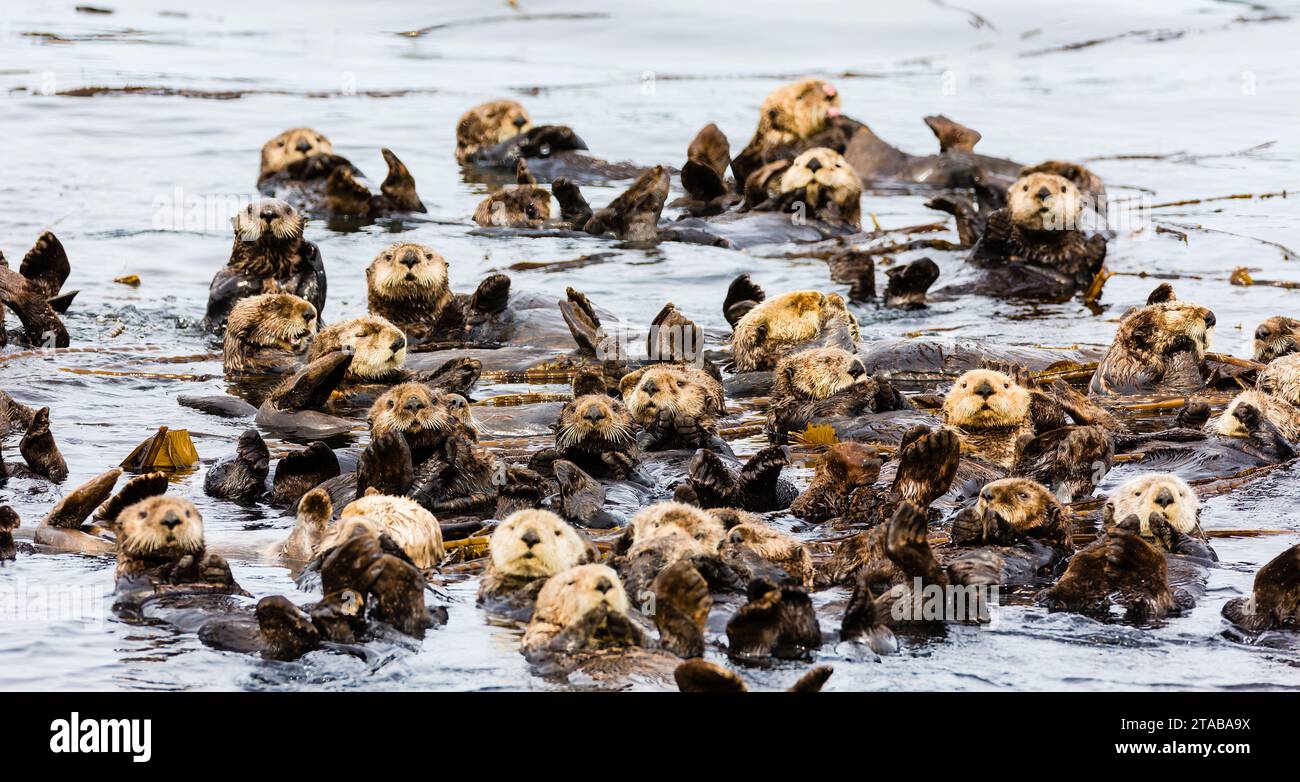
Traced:
[[[647, 323], [671, 299], [706, 329], [724, 331], [723, 292], [741, 271], [770, 292], [833, 288], [815, 259], [471, 235], [485, 187], [462, 177], [452, 127], [471, 105], [500, 96], [521, 100], [534, 121], [573, 126], [608, 160], [680, 165], [702, 125], [716, 122], [733, 145], [742, 144], [770, 90], [823, 75], [840, 87], [846, 114], [913, 152], [935, 147], [922, 117], [944, 113], [983, 132], [982, 152], [1026, 162], [1087, 161], [1113, 195], [1154, 204], [1300, 184], [1296, 3], [966, 0], [958, 9], [939, 1], [904, 8], [664, 0], [642, 9], [521, 0], [514, 9], [498, 1], [142, 0], [105, 8], [113, 13], [9, 0], [0, 26], [0, 248], [16, 262], [42, 230], [53, 230], [73, 262], [66, 287], [82, 291], [68, 316], [73, 343], [104, 348], [0, 353], [0, 387], [52, 408], [72, 469], [62, 490], [116, 465], [164, 423], [188, 429], [205, 465], [233, 449], [239, 422], [182, 408], [174, 397], [224, 388], [220, 360], [192, 325], [230, 249], [226, 204], [254, 195], [261, 144], [291, 126], [326, 132], [337, 152], [372, 177], [384, 170], [380, 147], [391, 147], [429, 208], [420, 220], [355, 233], [308, 226], [330, 274], [324, 316], [334, 320], [364, 312], [363, 270], [395, 233], [442, 252], [458, 290], [519, 261], [611, 251], [612, 262], [519, 271], [515, 284], [555, 296], [576, 286], [632, 323]], [[127, 86], [148, 90], [82, 90]], [[588, 195], [603, 203], [619, 190]], [[884, 227], [944, 217], [924, 200], [868, 194], [863, 214]], [[1213, 307], [1214, 348], [1222, 352], [1248, 355], [1262, 317], [1296, 314], [1294, 291], [1227, 283], [1236, 266], [1257, 278], [1300, 279], [1290, 249], [1300, 247], [1294, 197], [1166, 207], [1153, 217], [1171, 231], [1148, 225], [1112, 243], [1108, 264], [1124, 275], [1108, 283], [1100, 314], [1076, 301], [1031, 307], [982, 299], [919, 313], [859, 308], [863, 338], [926, 333], [1105, 344], [1115, 318], [1156, 284], [1143, 273], [1178, 275], [1180, 297]], [[958, 253], [928, 255], [945, 273], [959, 264]], [[142, 284], [110, 282], [125, 274], [138, 274]], [[498, 391], [488, 386], [478, 395]], [[10, 459], [16, 446], [6, 443]], [[746, 440], [737, 449], [757, 447]], [[1117, 470], [1108, 485], [1123, 477]], [[203, 469], [176, 483], [173, 492], [200, 505], [209, 543], [229, 553], [246, 588], [308, 599], [285, 569], [257, 557], [287, 534], [287, 520], [269, 508], [205, 498]], [[0, 488], [0, 503], [22, 514], [29, 535], [57, 496], [14, 482]], [[1300, 538], [1297, 503], [1292, 470], [1209, 500], [1208, 529], [1286, 534], [1217, 540], [1222, 566], [1210, 574], [1206, 596], [1162, 627], [1004, 608], [992, 627], [956, 627], [880, 661], [823, 647], [819, 661], [836, 668], [828, 688], [1296, 687], [1300, 655], [1222, 638], [1219, 608]], [[517, 634], [489, 625], [474, 608], [473, 579], [448, 587], [451, 621], [419, 650], [365, 661], [317, 653], [295, 664], [213, 652], [191, 634], [118, 621], [108, 608], [112, 562], [103, 559], [20, 557], [0, 569], [0, 588], [29, 601], [29, 611], [0, 621], [6, 688], [552, 686], [529, 675]], [[31, 608], [58, 595], [75, 599], [57, 611]], [[818, 600], [844, 596], [832, 591]], [[823, 625], [837, 626], [837, 617], [823, 616]], [[745, 672], [757, 687], [786, 686], [797, 674], [797, 666]]]

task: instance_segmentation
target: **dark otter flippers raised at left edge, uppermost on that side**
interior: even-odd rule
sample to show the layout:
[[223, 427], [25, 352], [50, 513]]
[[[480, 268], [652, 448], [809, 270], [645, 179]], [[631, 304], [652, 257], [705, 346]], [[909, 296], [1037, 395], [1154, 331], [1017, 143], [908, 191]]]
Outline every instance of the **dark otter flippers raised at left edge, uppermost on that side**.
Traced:
[[68, 329], [58, 318], [66, 312], [77, 291], [62, 292], [72, 265], [58, 238], [46, 231], [22, 257], [18, 271], [9, 269], [0, 252], [0, 347], [9, 340], [5, 330], [5, 308], [22, 323], [22, 339], [31, 346], [65, 348], [70, 344]]

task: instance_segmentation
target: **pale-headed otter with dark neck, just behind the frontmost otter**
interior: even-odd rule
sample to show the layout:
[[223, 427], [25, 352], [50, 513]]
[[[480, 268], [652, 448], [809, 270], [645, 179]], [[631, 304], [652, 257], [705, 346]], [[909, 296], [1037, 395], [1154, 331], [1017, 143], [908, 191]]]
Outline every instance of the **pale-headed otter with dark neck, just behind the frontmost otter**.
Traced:
[[594, 560], [594, 549], [550, 511], [519, 511], [493, 530], [478, 604], [511, 618], [528, 620], [537, 592], [556, 573]]

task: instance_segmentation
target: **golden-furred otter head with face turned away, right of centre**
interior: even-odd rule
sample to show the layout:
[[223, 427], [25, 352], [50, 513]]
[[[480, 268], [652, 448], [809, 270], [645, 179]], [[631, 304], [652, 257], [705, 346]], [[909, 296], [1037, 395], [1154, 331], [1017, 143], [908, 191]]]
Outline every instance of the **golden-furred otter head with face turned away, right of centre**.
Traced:
[[842, 296], [790, 291], [762, 301], [736, 323], [732, 360], [737, 372], [772, 369], [798, 346], [852, 348], [857, 342], [858, 320]]

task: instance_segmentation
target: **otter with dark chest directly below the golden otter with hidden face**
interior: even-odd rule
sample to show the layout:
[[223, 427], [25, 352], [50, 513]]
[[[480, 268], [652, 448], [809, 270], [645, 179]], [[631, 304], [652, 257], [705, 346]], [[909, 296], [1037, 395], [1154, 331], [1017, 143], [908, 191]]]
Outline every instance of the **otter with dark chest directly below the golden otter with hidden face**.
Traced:
[[871, 377], [855, 353], [811, 348], [786, 355], [776, 365], [767, 404], [767, 438], [784, 443], [823, 418], [909, 409], [911, 404], [884, 377]]

